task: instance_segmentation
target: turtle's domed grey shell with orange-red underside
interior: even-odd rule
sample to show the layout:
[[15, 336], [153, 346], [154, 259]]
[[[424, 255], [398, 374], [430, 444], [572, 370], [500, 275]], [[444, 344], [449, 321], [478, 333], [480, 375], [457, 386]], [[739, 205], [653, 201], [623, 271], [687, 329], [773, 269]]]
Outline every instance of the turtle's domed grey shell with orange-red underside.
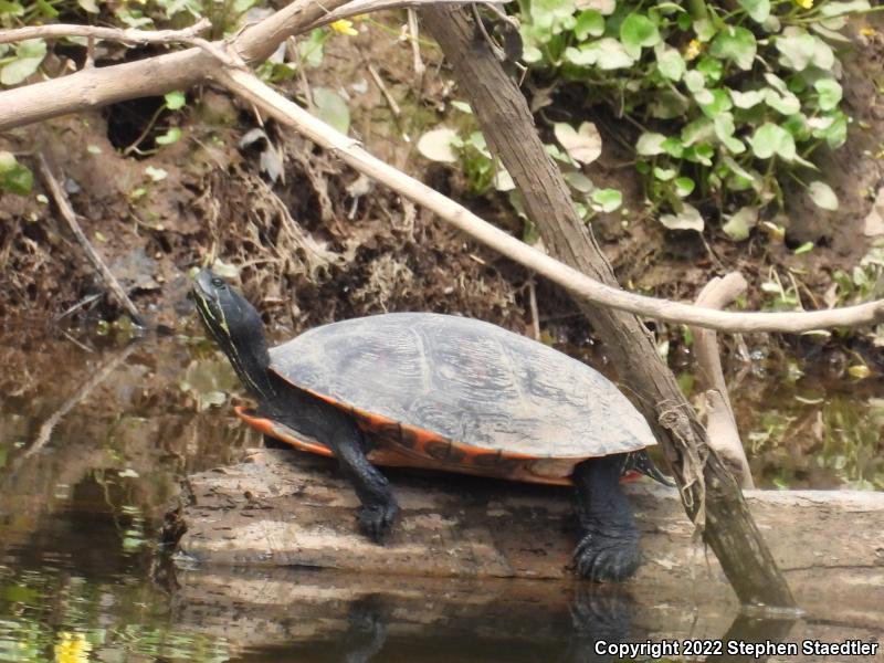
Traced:
[[[340, 407], [380, 465], [569, 483], [588, 457], [655, 444], [617, 387], [540, 343], [471, 318], [391, 313], [311, 329], [272, 348], [271, 369]], [[327, 446], [245, 410], [307, 451]]]

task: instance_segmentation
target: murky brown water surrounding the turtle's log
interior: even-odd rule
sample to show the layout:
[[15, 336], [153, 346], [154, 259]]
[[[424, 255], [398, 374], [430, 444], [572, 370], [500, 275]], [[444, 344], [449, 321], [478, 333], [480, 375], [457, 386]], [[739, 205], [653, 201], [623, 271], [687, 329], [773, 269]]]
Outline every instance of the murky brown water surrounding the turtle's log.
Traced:
[[[0, 343], [0, 661], [610, 661], [597, 640], [882, 631], [884, 614], [740, 620], [730, 597], [699, 614], [690, 588], [682, 601], [580, 582], [170, 570], [157, 541], [180, 477], [260, 443], [224, 402], [235, 378], [204, 341], [81, 340], [94, 351]], [[735, 409], [766, 486], [884, 487], [880, 382], [739, 370]]]

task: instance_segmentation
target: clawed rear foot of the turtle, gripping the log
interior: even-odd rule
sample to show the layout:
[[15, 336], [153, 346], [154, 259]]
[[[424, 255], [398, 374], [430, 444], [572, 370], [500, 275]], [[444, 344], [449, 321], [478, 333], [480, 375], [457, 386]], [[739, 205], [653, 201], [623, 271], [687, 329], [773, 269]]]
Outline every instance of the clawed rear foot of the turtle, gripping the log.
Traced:
[[599, 582], [620, 582], [639, 568], [639, 537], [634, 529], [591, 527], [573, 552], [577, 571]]

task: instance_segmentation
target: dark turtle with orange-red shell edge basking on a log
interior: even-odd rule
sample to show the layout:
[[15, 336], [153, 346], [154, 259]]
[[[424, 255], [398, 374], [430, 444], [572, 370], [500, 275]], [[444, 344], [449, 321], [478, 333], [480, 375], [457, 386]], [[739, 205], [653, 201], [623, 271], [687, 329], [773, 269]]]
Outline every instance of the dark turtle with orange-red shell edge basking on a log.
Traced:
[[199, 317], [257, 401], [240, 418], [334, 456], [383, 544], [399, 507], [377, 466], [572, 485], [582, 529], [576, 570], [620, 581], [640, 564], [620, 490], [627, 473], [666, 483], [642, 414], [600, 372], [525, 336], [436, 313], [387, 313], [309, 329], [270, 348], [261, 315], [224, 278], [198, 273]]

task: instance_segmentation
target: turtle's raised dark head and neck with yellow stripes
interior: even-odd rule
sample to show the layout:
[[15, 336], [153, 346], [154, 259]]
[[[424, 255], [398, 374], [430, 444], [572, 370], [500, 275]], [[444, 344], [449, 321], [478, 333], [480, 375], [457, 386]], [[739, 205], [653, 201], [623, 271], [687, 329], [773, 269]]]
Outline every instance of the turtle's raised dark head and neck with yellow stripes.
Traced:
[[259, 400], [272, 399], [267, 339], [255, 307], [209, 270], [197, 274], [190, 296], [202, 324], [224, 350], [242, 383]]

